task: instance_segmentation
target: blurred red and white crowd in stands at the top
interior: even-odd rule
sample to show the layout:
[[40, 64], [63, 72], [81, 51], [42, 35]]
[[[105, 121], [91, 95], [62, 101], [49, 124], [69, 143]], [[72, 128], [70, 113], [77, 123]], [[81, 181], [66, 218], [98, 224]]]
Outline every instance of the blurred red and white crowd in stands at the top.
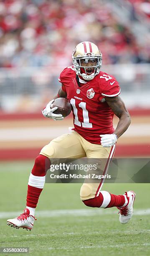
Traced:
[[150, 63], [150, 34], [139, 41], [132, 32], [138, 15], [150, 22], [150, 1], [130, 3], [123, 23], [109, 1], [1, 0], [0, 67], [68, 65], [74, 46], [91, 40], [103, 64]]

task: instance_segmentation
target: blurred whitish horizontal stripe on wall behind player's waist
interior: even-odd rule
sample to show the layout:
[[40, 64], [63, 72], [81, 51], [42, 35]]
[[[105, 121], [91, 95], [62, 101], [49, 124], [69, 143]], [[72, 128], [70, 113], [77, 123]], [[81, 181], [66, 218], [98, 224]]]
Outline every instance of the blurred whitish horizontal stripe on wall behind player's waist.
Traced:
[[[141, 131], [144, 136], [150, 136], [150, 124], [133, 124], [125, 132], [126, 137], [141, 136]], [[44, 139], [56, 138], [63, 133], [69, 133], [68, 126], [53, 126], [53, 127], [32, 127], [32, 128], [3, 128], [0, 129], [0, 141], [39, 141]]]

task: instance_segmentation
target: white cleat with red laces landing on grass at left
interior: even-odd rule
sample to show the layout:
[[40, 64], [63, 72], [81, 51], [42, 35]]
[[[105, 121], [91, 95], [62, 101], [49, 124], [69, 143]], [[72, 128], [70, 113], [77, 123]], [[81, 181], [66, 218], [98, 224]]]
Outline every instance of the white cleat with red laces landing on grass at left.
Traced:
[[7, 225], [17, 229], [25, 228], [26, 230], [31, 230], [34, 220], [36, 219], [30, 215], [30, 210], [26, 208], [18, 217], [7, 220]]

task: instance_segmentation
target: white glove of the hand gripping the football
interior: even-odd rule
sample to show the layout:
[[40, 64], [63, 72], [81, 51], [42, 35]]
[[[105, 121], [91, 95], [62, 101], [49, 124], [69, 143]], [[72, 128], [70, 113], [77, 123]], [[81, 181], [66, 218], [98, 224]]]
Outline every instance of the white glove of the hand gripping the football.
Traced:
[[47, 118], [51, 118], [55, 121], [57, 120], [63, 120], [64, 117], [61, 114], [54, 114], [53, 112], [57, 109], [57, 107], [51, 108], [52, 103], [54, 102], [54, 100], [51, 100], [47, 105], [46, 108], [44, 108], [42, 110], [42, 114], [43, 116], [47, 117]]

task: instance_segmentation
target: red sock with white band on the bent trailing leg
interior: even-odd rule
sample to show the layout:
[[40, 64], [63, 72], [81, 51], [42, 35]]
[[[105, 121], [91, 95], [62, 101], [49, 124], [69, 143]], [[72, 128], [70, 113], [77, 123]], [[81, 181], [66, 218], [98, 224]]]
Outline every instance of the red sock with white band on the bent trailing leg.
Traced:
[[107, 191], [101, 191], [97, 197], [84, 200], [86, 206], [89, 207], [101, 207], [101, 208], [110, 208], [110, 207], [121, 207], [125, 204], [124, 195], [113, 195]]

